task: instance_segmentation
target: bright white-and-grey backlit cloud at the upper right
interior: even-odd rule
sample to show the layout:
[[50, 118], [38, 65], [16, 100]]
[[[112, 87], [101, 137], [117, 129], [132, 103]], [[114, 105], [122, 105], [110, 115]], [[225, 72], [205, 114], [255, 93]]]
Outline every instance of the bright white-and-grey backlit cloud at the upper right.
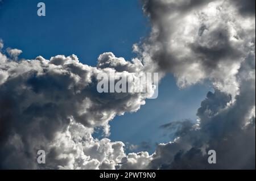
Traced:
[[255, 47], [254, 16], [233, 1], [148, 0], [143, 10], [152, 32], [137, 52], [149, 69], [174, 74], [180, 87], [209, 79], [237, 94], [237, 70]]

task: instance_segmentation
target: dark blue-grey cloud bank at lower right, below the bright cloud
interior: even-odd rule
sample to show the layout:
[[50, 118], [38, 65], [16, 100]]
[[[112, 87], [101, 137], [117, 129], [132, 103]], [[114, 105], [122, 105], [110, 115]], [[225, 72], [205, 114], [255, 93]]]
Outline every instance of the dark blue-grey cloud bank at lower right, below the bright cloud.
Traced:
[[[238, 70], [240, 94], [208, 92], [197, 111], [196, 124], [189, 120], [162, 125], [175, 140], [159, 144], [143, 169], [255, 169], [255, 54]], [[217, 163], [208, 163], [208, 150], [216, 150]], [[139, 159], [125, 168], [140, 165]]]

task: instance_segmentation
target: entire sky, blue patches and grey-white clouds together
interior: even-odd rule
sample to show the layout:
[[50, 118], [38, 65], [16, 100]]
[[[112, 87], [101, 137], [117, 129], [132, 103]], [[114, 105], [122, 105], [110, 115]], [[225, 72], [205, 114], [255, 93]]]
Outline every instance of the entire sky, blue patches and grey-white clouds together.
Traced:
[[38, 2], [0, 1], [0, 169], [255, 169], [254, 0]]

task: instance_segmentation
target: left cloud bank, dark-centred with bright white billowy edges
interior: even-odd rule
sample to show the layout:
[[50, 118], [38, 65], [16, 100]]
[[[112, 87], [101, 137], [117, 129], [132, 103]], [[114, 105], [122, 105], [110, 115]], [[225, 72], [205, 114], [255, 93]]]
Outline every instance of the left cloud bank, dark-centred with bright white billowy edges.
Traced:
[[[94, 128], [109, 134], [115, 115], [137, 111], [154, 90], [100, 94], [96, 78], [103, 72], [135, 76], [143, 68], [139, 60], [104, 53], [91, 67], [75, 55], [16, 60], [20, 50], [7, 52], [10, 58], [0, 53], [0, 167], [115, 169], [125, 157], [124, 144], [92, 138]], [[36, 162], [39, 149], [46, 150], [46, 165]]]

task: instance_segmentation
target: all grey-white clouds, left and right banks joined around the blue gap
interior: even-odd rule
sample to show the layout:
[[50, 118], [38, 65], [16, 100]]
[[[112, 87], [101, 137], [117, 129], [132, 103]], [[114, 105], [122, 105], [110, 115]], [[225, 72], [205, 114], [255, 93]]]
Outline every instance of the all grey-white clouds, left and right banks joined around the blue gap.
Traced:
[[[138, 58], [103, 53], [96, 67], [79, 58], [18, 60], [0, 41], [1, 169], [255, 169], [255, 9], [252, 1], [145, 0], [150, 37], [134, 45]], [[255, 3], [255, 2], [254, 2]], [[155, 153], [125, 153], [109, 134], [116, 115], [135, 112], [148, 92], [100, 94], [97, 75], [172, 73], [186, 87], [209, 80], [215, 89], [189, 120], [163, 125], [175, 140]], [[138, 85], [133, 85], [138, 86]], [[46, 164], [36, 162], [46, 150]], [[207, 151], [216, 150], [209, 165]]]

